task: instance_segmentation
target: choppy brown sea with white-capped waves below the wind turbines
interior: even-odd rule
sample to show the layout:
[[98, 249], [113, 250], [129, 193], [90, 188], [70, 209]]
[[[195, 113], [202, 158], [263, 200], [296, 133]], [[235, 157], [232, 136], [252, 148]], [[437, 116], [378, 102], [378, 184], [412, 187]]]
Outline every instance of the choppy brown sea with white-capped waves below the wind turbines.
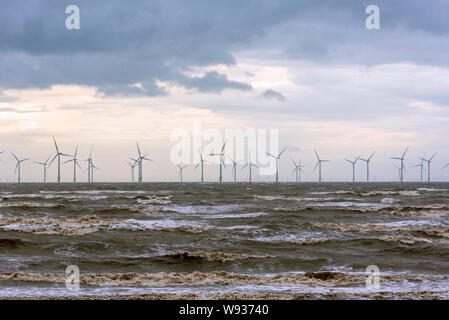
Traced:
[[0, 184], [0, 298], [448, 299], [448, 217], [448, 183]]

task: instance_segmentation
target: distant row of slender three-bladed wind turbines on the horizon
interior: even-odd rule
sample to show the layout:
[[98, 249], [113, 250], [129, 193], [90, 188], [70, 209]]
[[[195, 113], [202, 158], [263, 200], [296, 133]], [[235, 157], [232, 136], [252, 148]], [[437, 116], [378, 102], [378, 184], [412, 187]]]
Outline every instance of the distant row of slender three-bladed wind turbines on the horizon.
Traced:
[[[77, 168], [78, 169], [82, 169], [81, 165], [78, 162], [78, 146], [75, 148], [75, 152], [72, 155], [63, 153], [60, 151], [59, 146], [56, 142], [55, 137], [53, 137], [53, 143], [55, 146], [55, 151], [56, 154], [54, 156], [50, 155], [44, 162], [34, 162], [36, 164], [42, 165], [43, 167], [43, 181], [47, 182], [47, 170], [48, 168], [51, 166], [51, 164], [57, 160], [57, 183], [61, 182], [61, 157], [70, 157], [70, 159], [66, 160], [63, 162], [63, 164], [65, 163], [71, 163], [73, 162], [73, 182], [76, 182], [77, 180]], [[226, 142], [223, 143], [220, 152], [218, 153], [210, 153], [209, 156], [213, 157], [213, 156], [218, 156], [219, 157], [219, 177], [218, 177], [218, 181], [219, 182], [223, 182], [223, 168], [226, 169], [226, 164], [225, 164], [225, 146], [226, 146]], [[131, 160], [132, 162], [126, 161], [126, 163], [129, 165], [130, 170], [131, 170], [131, 181], [134, 182], [134, 169], [137, 166], [138, 168], [138, 182], [142, 182], [142, 176], [143, 176], [143, 161], [153, 161], [152, 159], [150, 159], [148, 157], [148, 154], [145, 153], [143, 154], [140, 150], [140, 146], [139, 144], [136, 142], [136, 147], [137, 147], [137, 157], [129, 157], [129, 160]], [[281, 156], [283, 155], [283, 153], [285, 152], [286, 148], [283, 148], [278, 154], [271, 154], [271, 153], [266, 153], [267, 156], [272, 157], [275, 160], [275, 182], [279, 182], [279, 160], [281, 159]], [[399, 161], [399, 165], [397, 165], [396, 163], [394, 163], [394, 166], [398, 169], [398, 179], [400, 182], [404, 182], [404, 173], [406, 171], [406, 167], [405, 167], [405, 156], [408, 152], [409, 148], [407, 147], [405, 149], [405, 151], [402, 153], [401, 156], [399, 157], [390, 157], [390, 159], [392, 160], [398, 160]], [[87, 162], [87, 168], [86, 170], [83, 171], [86, 172], [87, 171], [87, 178], [88, 178], [88, 182], [93, 182], [94, 181], [94, 170], [101, 170], [100, 168], [98, 168], [97, 166], [94, 165], [93, 162], [93, 157], [92, 157], [92, 152], [93, 152], [93, 147], [89, 153], [89, 156], [87, 157], [87, 159], [85, 159], [84, 161]], [[199, 152], [199, 156], [200, 156], [200, 160], [199, 162], [194, 166], [194, 170], [196, 170], [198, 167], [201, 166], [201, 178], [200, 181], [204, 182], [204, 164], [207, 163], [211, 163], [211, 161], [208, 161], [205, 159], [203, 153], [201, 152], [201, 150], [198, 150]], [[322, 182], [323, 181], [323, 164], [326, 162], [330, 162], [330, 160], [325, 160], [325, 159], [321, 159], [318, 152], [316, 150], [314, 150], [315, 152], [315, 156], [317, 159], [317, 162], [315, 164], [315, 167], [313, 169], [313, 172], [316, 171], [316, 169], [318, 168], [318, 181]], [[4, 151], [0, 151], [0, 154], [4, 153]], [[371, 161], [373, 159], [373, 156], [375, 155], [375, 151], [368, 157], [368, 158], [362, 158], [360, 155], [357, 157], [354, 157], [353, 160], [351, 159], [344, 159], [346, 162], [348, 162], [351, 165], [351, 169], [352, 169], [352, 182], [356, 181], [356, 164], [357, 162], [363, 161], [366, 163], [366, 181], [370, 182], [370, 164]], [[17, 173], [17, 182], [20, 183], [21, 182], [21, 166], [22, 163], [29, 160], [30, 158], [23, 158], [23, 159], [19, 159], [14, 153], [12, 153], [12, 156], [14, 157], [14, 159], [16, 160], [16, 166], [14, 169], [14, 174]], [[412, 168], [420, 168], [420, 174], [421, 174], [421, 181], [424, 181], [424, 173], [427, 172], [427, 182], [431, 181], [431, 163], [433, 161], [433, 159], [435, 158], [436, 153], [434, 153], [430, 158], [426, 158], [425, 155], [423, 155], [422, 157], [420, 157], [419, 159], [421, 160], [420, 164], [414, 165], [412, 166]], [[52, 158], [53, 157], [53, 158]], [[51, 161], [50, 161], [51, 159]], [[241, 169], [245, 169], [248, 168], [248, 175], [249, 175], [249, 182], [252, 182], [253, 180], [253, 175], [252, 175], [252, 168], [258, 168], [257, 164], [251, 161], [251, 154], [248, 154], [248, 161], [244, 162], [243, 160], [235, 160], [235, 159], [229, 159], [232, 163], [232, 176], [233, 176], [233, 181], [237, 182], [237, 168], [239, 165], [241, 165]], [[50, 161], [50, 162], [49, 162]], [[292, 174], [295, 174], [295, 181], [296, 182], [301, 182], [301, 172], [304, 172], [303, 168], [306, 167], [305, 165], [303, 165], [301, 163], [301, 160], [298, 160], [298, 162], [296, 162], [293, 158], [292, 158], [292, 162], [293, 162], [293, 170], [292, 170]], [[427, 164], [427, 170], [426, 167], [424, 165], [424, 163]], [[180, 182], [183, 182], [183, 170], [187, 167], [189, 167], [188, 165], [183, 165], [183, 164], [176, 164], [176, 166], [178, 167], [178, 177], [180, 179]], [[442, 169], [445, 169], [449, 167], [449, 163], [446, 164]]]

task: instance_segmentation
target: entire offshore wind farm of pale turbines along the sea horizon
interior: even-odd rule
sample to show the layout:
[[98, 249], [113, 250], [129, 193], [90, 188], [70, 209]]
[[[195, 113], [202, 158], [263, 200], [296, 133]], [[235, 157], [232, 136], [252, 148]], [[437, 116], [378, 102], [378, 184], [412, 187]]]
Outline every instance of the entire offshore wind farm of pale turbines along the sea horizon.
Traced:
[[[68, 164], [71, 163], [73, 165], [73, 182], [76, 183], [77, 179], [80, 179], [78, 181], [82, 180], [83, 175], [85, 175], [85, 179], [87, 179], [87, 182], [94, 182], [94, 170], [101, 170], [99, 167], [97, 167], [96, 165], [94, 165], [93, 163], [93, 146], [90, 149], [90, 153], [87, 156], [87, 158], [84, 160], [84, 162], [86, 162], [87, 166], [85, 166], [85, 169], [83, 171], [81, 171], [81, 173], [79, 171], [77, 171], [77, 168], [82, 170], [83, 167], [80, 165], [79, 161], [78, 161], [78, 148], [79, 146], [77, 145], [75, 147], [74, 153], [73, 154], [66, 154], [66, 153], [62, 153], [59, 150], [58, 144], [56, 143], [56, 139], [55, 137], [52, 137], [53, 139], [53, 143], [54, 143], [54, 147], [55, 147], [55, 155], [52, 156], [50, 155], [45, 162], [39, 162], [39, 161], [34, 161], [35, 164], [39, 164], [42, 166], [43, 168], [43, 175], [42, 175], [42, 180], [41, 181], [28, 181], [28, 182], [51, 182], [51, 181], [47, 181], [47, 171], [50, 169], [50, 166], [52, 165], [52, 163], [55, 162], [56, 160], [56, 181], [52, 181], [52, 182], [56, 182], [56, 183], [60, 183], [61, 182], [61, 173], [62, 173], [62, 167], [61, 164]], [[225, 147], [226, 147], [226, 142], [223, 143], [219, 149], [219, 152], [211, 152], [210, 154], [204, 155], [203, 152], [201, 151], [201, 149], [198, 150], [198, 154], [199, 154], [199, 161], [198, 163], [193, 164], [192, 166], [192, 170], [195, 171], [197, 168], [200, 168], [200, 178], [198, 180], [190, 180], [190, 181], [186, 181], [183, 180], [183, 170], [190, 167], [189, 164], [177, 164], [174, 163], [173, 165], [175, 167], [178, 168], [179, 172], [178, 172], [178, 177], [180, 178], [179, 182], [205, 182], [205, 169], [207, 168], [207, 166], [214, 166], [215, 162], [214, 159], [218, 159], [218, 166], [219, 166], [219, 176], [218, 176], [218, 180], [214, 180], [214, 179], [209, 179], [208, 182], [245, 182], [245, 181], [249, 181], [249, 182], [257, 182], [257, 180], [255, 179], [256, 177], [256, 172], [254, 172], [254, 170], [256, 170], [257, 168], [259, 168], [257, 162], [252, 162], [251, 161], [251, 154], [248, 153], [246, 159], [241, 159], [241, 160], [233, 160], [233, 158], [226, 158], [227, 155], [225, 154]], [[279, 170], [280, 170], [280, 164], [279, 161], [281, 159], [281, 156], [284, 154], [284, 152], [287, 150], [286, 147], [283, 147], [281, 149], [281, 151], [277, 154], [271, 154], [271, 153], [266, 153], [266, 155], [271, 158], [274, 161], [274, 182], [292, 182], [291, 180], [288, 179], [288, 175], [286, 176], [285, 181], [281, 181], [279, 179]], [[129, 166], [129, 170], [130, 170], [130, 180], [129, 181], [117, 181], [117, 182], [135, 182], [136, 178], [135, 178], [135, 168], [137, 167], [137, 182], [143, 182], [143, 161], [149, 161], [149, 162], [153, 162], [152, 159], [148, 158], [148, 154], [142, 154], [141, 150], [140, 150], [140, 146], [139, 144], [136, 142], [136, 151], [137, 153], [135, 155], [130, 155], [127, 158], [125, 158], [125, 163], [128, 164]], [[404, 182], [406, 180], [405, 174], [406, 174], [406, 166], [405, 166], [405, 156], [407, 154], [407, 152], [409, 151], [409, 147], [407, 147], [405, 149], [405, 151], [402, 153], [402, 155], [400, 157], [388, 157], [388, 159], [393, 160], [393, 161], [399, 161], [399, 165], [394, 164], [394, 166], [398, 169], [399, 172], [399, 178], [391, 178], [388, 180], [383, 180], [383, 182], [386, 181], [398, 181], [398, 182]], [[1, 152], [0, 153], [0, 158], [1, 158], [1, 154], [4, 153]], [[315, 166], [313, 167], [312, 173], [317, 172], [317, 178], [316, 178], [316, 182], [325, 182], [325, 178], [324, 178], [324, 168], [322, 167], [323, 163], [327, 163], [327, 162], [331, 162], [331, 160], [325, 160], [325, 159], [321, 159], [318, 152], [316, 150], [314, 150], [314, 154], [316, 156], [316, 163]], [[351, 166], [351, 175], [350, 178], [348, 178], [347, 180], [340, 180], [341, 182], [345, 182], [345, 181], [350, 181], [350, 182], [370, 182], [370, 164], [373, 161], [373, 157], [376, 154], [376, 152], [373, 152], [369, 155], [369, 157], [367, 157], [367, 159], [362, 158], [361, 155], [354, 157], [352, 160], [351, 159], [340, 159], [340, 160], [344, 160], [345, 162], [349, 163]], [[425, 154], [422, 157], [418, 157], [417, 159], [420, 160], [420, 164], [417, 165], [413, 165], [410, 168], [419, 168], [420, 169], [420, 175], [419, 175], [419, 180], [417, 179], [416, 176], [412, 176], [412, 178], [408, 179], [409, 181], [412, 182], [431, 182], [432, 178], [431, 178], [431, 163], [433, 161], [433, 159], [435, 158], [437, 154], [434, 153], [431, 157], [429, 157], [428, 159], [425, 158]], [[11, 156], [15, 159], [16, 161], [16, 166], [14, 169], [14, 174], [16, 174], [16, 181], [10, 181], [11, 183], [17, 182], [17, 183], [23, 183], [23, 174], [21, 174], [21, 169], [22, 169], [22, 163], [30, 160], [31, 157], [27, 157], [24, 159], [19, 159], [14, 153], [11, 152]], [[65, 160], [61, 163], [61, 157], [68, 157], [70, 159]], [[51, 160], [50, 160], [51, 159]], [[223, 178], [224, 177], [224, 172], [228, 169], [225, 163], [225, 160], [228, 159], [232, 169], [231, 169], [231, 178], [228, 179], [227, 181]], [[333, 159], [334, 161], [336, 159]], [[363, 174], [359, 174], [357, 175], [357, 171], [356, 171], [356, 167], [357, 167], [357, 163], [359, 161], [363, 161], [366, 164], [366, 173], [365, 176], [363, 176]], [[295, 182], [299, 183], [301, 182], [301, 173], [304, 173], [304, 167], [306, 167], [305, 165], [302, 165], [302, 161], [301, 159], [298, 159], [298, 162], [296, 162], [293, 158], [292, 158], [292, 163], [293, 163], [293, 171], [292, 173], [295, 176]], [[425, 164], [427, 164], [427, 166], [425, 166]], [[449, 163], [445, 164], [443, 167], [441, 167], [441, 171], [444, 171], [447, 167], [449, 166]], [[241, 179], [238, 180], [237, 179], [237, 172], [238, 169], [244, 169], [248, 167], [248, 180], [246, 179]], [[318, 169], [318, 170], [317, 170]], [[343, 168], [341, 168], [343, 170]], [[149, 170], [151, 173], [151, 169]], [[288, 171], [288, 170], [286, 170]], [[426, 175], [426, 179], [424, 180], [424, 175]], [[392, 177], [394, 177], [395, 174], [392, 173]], [[154, 181], [153, 182], [158, 182], [158, 181]], [[266, 182], [266, 180], [262, 180], [264, 182]], [[312, 180], [313, 181], [313, 180]], [[336, 180], [329, 180], [329, 181], [336, 181]], [[339, 181], [339, 180], [337, 180]], [[444, 180], [443, 180], [444, 181]], [[100, 181], [101, 182], [101, 181]], [[159, 182], [164, 182], [164, 181], [159, 181]], [[311, 181], [309, 181], [311, 182]], [[377, 182], [382, 182], [381, 181], [377, 181]]]

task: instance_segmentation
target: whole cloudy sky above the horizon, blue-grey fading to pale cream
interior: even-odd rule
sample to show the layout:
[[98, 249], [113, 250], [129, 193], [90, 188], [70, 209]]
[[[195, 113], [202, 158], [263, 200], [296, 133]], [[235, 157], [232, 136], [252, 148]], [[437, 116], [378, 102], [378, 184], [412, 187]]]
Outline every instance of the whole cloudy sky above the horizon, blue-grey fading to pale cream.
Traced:
[[[77, 5], [80, 28], [66, 28]], [[365, 21], [380, 9], [380, 28]], [[274, 129], [281, 181], [292, 158], [316, 181], [316, 149], [327, 181], [349, 181], [344, 159], [368, 157], [371, 180], [398, 179], [390, 157], [407, 146], [405, 179], [437, 153], [432, 179], [449, 180], [449, 2], [446, 0], [2, 1], [0, 181], [42, 180], [55, 136], [83, 167], [93, 150], [97, 181], [129, 181], [136, 142], [153, 161], [144, 181], [177, 181], [176, 130]], [[223, 139], [224, 141], [224, 139]], [[203, 141], [204, 145], [207, 141]], [[218, 147], [220, 143], [218, 143]], [[202, 146], [203, 147], [203, 146]], [[93, 149], [92, 149], [93, 148]], [[193, 147], [192, 147], [193, 148]], [[217, 150], [218, 152], [219, 150]], [[224, 180], [232, 179], [230, 158]], [[245, 156], [246, 157], [246, 156]], [[191, 150], [185, 181], [198, 181]], [[64, 158], [64, 161], [69, 158]], [[208, 157], [206, 181], [218, 180]], [[248, 160], [236, 159], [236, 160]], [[254, 160], [254, 159], [253, 159]], [[260, 159], [261, 161], [263, 159]], [[364, 180], [365, 164], [356, 168]], [[274, 175], [257, 175], [272, 181]], [[56, 179], [52, 164], [48, 180]], [[70, 163], [62, 181], [73, 179]], [[238, 179], [248, 179], [238, 169]]]

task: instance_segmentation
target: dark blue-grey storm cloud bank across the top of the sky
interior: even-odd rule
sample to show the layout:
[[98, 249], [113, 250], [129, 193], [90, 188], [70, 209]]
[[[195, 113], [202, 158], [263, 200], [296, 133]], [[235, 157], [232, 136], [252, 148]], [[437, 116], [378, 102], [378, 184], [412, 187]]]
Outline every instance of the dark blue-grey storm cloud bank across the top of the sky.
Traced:
[[[77, 4], [81, 29], [65, 28]], [[381, 30], [365, 28], [368, 4]], [[233, 52], [276, 49], [288, 59], [447, 65], [449, 2], [432, 1], [3, 1], [0, 88], [96, 86], [105, 94], [163, 95], [157, 81], [200, 92], [250, 90], [192, 67], [235, 64]], [[264, 58], [260, 56], [260, 58]], [[140, 87], [132, 86], [140, 83]]]

